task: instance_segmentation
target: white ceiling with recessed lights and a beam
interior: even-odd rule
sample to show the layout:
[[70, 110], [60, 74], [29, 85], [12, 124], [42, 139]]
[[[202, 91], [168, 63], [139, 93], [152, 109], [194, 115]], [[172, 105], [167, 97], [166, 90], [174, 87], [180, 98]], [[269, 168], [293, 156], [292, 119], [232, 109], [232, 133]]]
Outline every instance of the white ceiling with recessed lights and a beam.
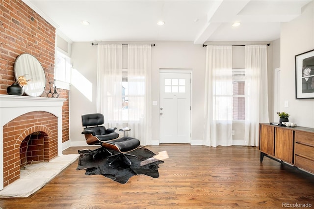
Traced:
[[[312, 0], [23, 0], [78, 41], [272, 41]], [[80, 22], [86, 20], [89, 26]], [[157, 22], [165, 22], [157, 26]], [[240, 22], [238, 27], [232, 27]]]

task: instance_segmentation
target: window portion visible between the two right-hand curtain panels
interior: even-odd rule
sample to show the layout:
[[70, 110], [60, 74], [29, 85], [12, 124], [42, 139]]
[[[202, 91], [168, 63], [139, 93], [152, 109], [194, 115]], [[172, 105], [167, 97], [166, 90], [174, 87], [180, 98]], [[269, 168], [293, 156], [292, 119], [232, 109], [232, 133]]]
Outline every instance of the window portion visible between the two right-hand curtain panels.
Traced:
[[233, 121], [245, 120], [245, 69], [232, 69]]

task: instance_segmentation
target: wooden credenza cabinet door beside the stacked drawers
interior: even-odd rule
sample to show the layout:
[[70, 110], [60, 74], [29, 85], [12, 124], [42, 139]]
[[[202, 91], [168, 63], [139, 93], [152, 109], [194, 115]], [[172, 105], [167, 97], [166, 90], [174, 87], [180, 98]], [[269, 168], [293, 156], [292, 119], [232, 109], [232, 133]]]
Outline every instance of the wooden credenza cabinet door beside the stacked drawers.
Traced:
[[275, 128], [275, 157], [293, 163], [293, 131]]

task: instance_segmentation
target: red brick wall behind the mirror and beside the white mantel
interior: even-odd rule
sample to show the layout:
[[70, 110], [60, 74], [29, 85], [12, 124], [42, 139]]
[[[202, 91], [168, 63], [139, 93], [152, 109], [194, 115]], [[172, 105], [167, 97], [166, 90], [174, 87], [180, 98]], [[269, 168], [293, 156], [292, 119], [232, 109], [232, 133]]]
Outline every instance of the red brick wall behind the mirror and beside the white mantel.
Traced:
[[[29, 8], [22, 0], [0, 1], [0, 94], [15, 82], [14, 62], [21, 53], [34, 55], [46, 74], [47, 97], [49, 82], [54, 82], [55, 28]], [[62, 142], [69, 140], [69, 92], [57, 89], [67, 99], [62, 108]]]

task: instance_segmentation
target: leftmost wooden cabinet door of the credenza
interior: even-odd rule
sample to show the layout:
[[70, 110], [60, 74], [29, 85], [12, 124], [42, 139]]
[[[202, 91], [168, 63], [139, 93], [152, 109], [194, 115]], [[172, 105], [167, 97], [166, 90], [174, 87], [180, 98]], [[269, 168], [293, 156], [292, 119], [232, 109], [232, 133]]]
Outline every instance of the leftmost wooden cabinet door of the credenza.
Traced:
[[260, 127], [260, 149], [263, 153], [275, 156], [275, 127], [261, 125]]

